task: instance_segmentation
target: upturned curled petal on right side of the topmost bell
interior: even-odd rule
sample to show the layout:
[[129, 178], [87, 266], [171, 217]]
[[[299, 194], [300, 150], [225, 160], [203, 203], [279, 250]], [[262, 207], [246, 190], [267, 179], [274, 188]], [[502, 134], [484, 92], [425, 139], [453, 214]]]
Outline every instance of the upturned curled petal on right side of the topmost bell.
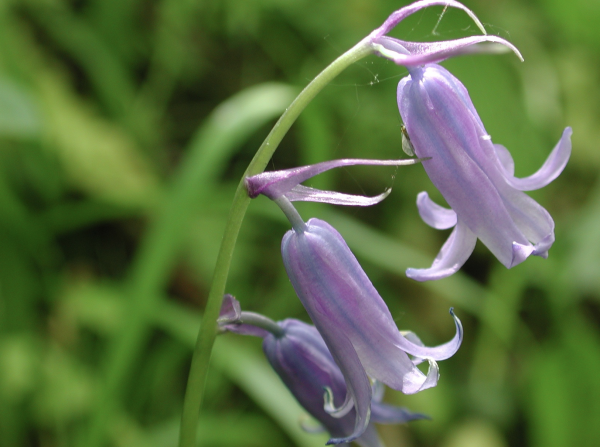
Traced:
[[[542, 167], [535, 174], [525, 178], [516, 178], [514, 176], [514, 163], [512, 163], [512, 169], [510, 169], [510, 165], [507, 166], [506, 154], [504, 151], [508, 151], [505, 148], [502, 148], [504, 151], [496, 148], [496, 156], [498, 157], [498, 162], [504, 168], [503, 172], [506, 182], [520, 191], [533, 191], [548, 185], [560, 175], [569, 161], [569, 157], [571, 156], [572, 134], [573, 130], [570, 127], [567, 127]], [[510, 157], [510, 154], [508, 156]], [[507, 167], [509, 167], [509, 169], [506, 169]]]

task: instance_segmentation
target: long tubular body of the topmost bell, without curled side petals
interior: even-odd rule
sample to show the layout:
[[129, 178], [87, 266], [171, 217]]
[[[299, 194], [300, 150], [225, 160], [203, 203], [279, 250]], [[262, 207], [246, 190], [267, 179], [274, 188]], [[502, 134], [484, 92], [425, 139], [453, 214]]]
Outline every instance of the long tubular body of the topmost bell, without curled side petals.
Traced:
[[431, 157], [423, 167], [458, 220], [509, 267], [512, 243], [529, 243], [507, 209], [508, 190], [516, 190], [460, 81], [434, 64], [413, 72], [398, 86], [398, 105], [415, 153]]

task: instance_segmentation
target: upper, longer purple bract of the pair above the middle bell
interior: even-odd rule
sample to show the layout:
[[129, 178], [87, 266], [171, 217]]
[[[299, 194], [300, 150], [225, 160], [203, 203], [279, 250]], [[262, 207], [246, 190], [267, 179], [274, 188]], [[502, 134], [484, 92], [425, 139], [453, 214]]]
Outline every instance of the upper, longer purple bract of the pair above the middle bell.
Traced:
[[[244, 184], [251, 198], [263, 194], [275, 200], [286, 195], [294, 187], [315, 175], [333, 168], [353, 165], [376, 165], [376, 166], [404, 166], [419, 163], [421, 160], [364, 160], [364, 159], [341, 159], [324, 161], [314, 165], [299, 168], [285, 169], [282, 171], [269, 171], [252, 177], [246, 177]], [[322, 194], [326, 194], [322, 192]], [[320, 200], [327, 202], [327, 200]], [[329, 202], [327, 202], [329, 203]]]

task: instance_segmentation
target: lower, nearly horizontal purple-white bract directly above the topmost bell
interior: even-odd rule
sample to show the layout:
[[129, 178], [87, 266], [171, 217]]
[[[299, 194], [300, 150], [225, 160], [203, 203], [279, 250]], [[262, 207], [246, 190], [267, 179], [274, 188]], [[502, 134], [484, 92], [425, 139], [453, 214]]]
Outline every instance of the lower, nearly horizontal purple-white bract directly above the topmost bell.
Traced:
[[374, 39], [371, 46], [379, 56], [405, 67], [441, 62], [464, 54], [505, 52], [507, 48], [523, 60], [517, 47], [498, 36], [470, 36], [440, 42], [408, 42], [382, 36]]

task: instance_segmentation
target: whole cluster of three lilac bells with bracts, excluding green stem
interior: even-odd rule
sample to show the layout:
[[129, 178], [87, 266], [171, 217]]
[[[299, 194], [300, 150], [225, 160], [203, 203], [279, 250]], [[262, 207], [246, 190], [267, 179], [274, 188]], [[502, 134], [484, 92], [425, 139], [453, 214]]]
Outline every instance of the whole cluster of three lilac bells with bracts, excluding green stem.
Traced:
[[[407, 42], [387, 36], [400, 21], [420, 9], [444, 5], [465, 11], [483, 35], [444, 42]], [[432, 183], [451, 209], [433, 203], [426, 192], [417, 198], [422, 219], [438, 229], [453, 228], [440, 254], [428, 269], [408, 269], [418, 281], [455, 273], [480, 239], [507, 268], [528, 256], [546, 257], [554, 241], [548, 212], [523, 191], [541, 188], [566, 166], [571, 129], [563, 135], [542, 168], [527, 178], [514, 176], [510, 153], [494, 145], [466, 88], [438, 62], [476, 52], [519, 51], [506, 40], [488, 36], [479, 20], [453, 0], [421, 0], [394, 12], [360, 45], [405, 66], [409, 75], [398, 85], [397, 101], [402, 147], [417, 159], [332, 160], [245, 179], [248, 195], [264, 195], [285, 213], [292, 229], [282, 241], [283, 264], [291, 284], [314, 326], [288, 319], [273, 322], [242, 312], [226, 296], [219, 318], [221, 331], [263, 338], [268, 361], [304, 408], [329, 431], [330, 444], [357, 440], [379, 445], [372, 422], [422, 419], [405, 409], [381, 403], [382, 384], [405, 394], [434, 387], [438, 361], [448, 359], [462, 342], [460, 320], [453, 318], [454, 337], [426, 347], [410, 332], [401, 332], [350, 248], [330, 224], [304, 221], [292, 202], [371, 206], [375, 197], [320, 191], [301, 185], [328, 169], [350, 165], [411, 165], [422, 163]], [[522, 59], [522, 58], [521, 58]], [[427, 373], [418, 365], [427, 362]], [[325, 395], [323, 395], [323, 390]]]

